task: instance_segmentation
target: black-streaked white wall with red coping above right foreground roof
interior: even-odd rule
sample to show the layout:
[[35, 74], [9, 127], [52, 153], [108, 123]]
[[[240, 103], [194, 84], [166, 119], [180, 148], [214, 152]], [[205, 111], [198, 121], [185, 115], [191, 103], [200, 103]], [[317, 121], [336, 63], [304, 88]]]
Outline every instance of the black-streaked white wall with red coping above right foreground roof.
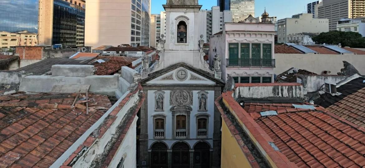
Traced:
[[262, 99], [268, 97], [288, 97], [292, 99], [303, 99], [303, 86], [258, 86], [238, 87], [235, 90], [234, 98]]

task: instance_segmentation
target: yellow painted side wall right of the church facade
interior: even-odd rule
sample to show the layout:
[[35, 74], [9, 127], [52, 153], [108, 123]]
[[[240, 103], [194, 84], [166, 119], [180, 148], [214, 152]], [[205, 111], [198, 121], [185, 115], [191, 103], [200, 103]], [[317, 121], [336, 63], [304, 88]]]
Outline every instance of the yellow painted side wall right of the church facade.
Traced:
[[227, 124], [222, 121], [221, 168], [250, 168], [250, 162], [242, 152]]

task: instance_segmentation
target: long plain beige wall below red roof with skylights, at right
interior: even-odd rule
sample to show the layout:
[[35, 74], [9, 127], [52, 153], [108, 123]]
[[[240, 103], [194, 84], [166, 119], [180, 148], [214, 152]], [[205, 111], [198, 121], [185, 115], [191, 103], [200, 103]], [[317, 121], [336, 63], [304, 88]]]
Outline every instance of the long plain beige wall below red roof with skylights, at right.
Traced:
[[331, 75], [337, 75], [343, 68], [342, 61], [347, 61], [365, 75], [365, 55], [326, 55], [326, 54], [275, 54], [275, 74], [280, 74], [295, 67], [322, 74], [323, 71], [331, 71]]

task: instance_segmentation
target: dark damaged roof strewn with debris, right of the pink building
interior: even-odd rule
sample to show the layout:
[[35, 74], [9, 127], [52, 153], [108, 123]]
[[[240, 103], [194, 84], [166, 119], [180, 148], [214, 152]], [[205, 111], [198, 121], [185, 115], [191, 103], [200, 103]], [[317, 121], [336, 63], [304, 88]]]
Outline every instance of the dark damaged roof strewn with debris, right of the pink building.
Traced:
[[276, 76], [276, 81], [280, 83], [295, 83], [297, 82], [297, 75], [317, 75], [314, 72], [305, 69], [290, 68]]

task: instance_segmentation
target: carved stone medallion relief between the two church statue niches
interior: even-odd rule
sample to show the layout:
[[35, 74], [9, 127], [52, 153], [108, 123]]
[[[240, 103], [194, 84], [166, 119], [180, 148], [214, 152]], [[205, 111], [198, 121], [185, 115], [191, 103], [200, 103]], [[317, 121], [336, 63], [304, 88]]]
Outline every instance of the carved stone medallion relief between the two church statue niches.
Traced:
[[193, 91], [171, 91], [170, 105], [193, 105]]

